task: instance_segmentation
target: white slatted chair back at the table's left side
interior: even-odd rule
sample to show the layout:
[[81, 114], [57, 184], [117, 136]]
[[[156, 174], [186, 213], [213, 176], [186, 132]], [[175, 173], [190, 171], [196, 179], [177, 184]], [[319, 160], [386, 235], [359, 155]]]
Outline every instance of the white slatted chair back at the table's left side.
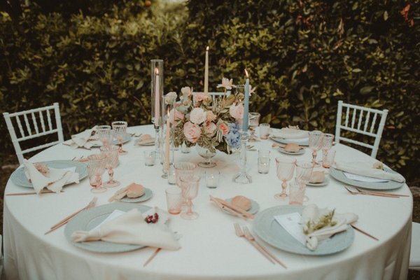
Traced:
[[[51, 118], [51, 113], [54, 114], [54, 119]], [[62, 143], [64, 141], [61, 116], [59, 114], [59, 105], [54, 103], [51, 106], [45, 106], [43, 108], [31, 109], [27, 111], [21, 111], [18, 113], [3, 113], [4, 120], [10, 133], [13, 146], [15, 147], [16, 155], [20, 165], [24, 160], [23, 155], [25, 153], [41, 150], [48, 148], [55, 144]], [[46, 123], [44, 118], [46, 118]], [[23, 120], [23, 125], [22, 125]], [[55, 121], [55, 122], [54, 122]], [[55, 125], [53, 125], [55, 123]], [[16, 133], [15, 127], [18, 129], [19, 134]], [[27, 148], [22, 151], [20, 142], [37, 137], [43, 137], [48, 134], [57, 134], [58, 140], [43, 144], [40, 146]]]

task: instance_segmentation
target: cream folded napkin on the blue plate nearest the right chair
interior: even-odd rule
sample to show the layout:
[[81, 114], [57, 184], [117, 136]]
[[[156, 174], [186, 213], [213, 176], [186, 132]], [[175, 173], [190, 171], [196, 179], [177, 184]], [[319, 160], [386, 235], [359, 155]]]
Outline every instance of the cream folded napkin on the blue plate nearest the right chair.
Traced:
[[381, 166], [380, 162], [335, 162], [334, 165], [335, 169], [360, 176], [387, 179], [400, 183], [405, 182], [405, 179], [401, 174], [386, 172], [381, 169]]

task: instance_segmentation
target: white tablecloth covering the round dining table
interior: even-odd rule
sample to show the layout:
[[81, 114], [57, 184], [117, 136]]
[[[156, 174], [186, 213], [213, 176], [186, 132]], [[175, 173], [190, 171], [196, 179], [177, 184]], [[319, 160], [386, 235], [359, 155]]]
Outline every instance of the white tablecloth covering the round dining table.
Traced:
[[[151, 125], [128, 127], [130, 134], [151, 134]], [[257, 130], [258, 134], [258, 130]], [[407, 197], [380, 197], [373, 195], [351, 195], [344, 183], [330, 178], [327, 186], [307, 186], [307, 204], [335, 209], [339, 213], [358, 215], [354, 224], [361, 230], [377, 237], [372, 239], [354, 231], [353, 243], [344, 251], [331, 255], [300, 255], [288, 253], [265, 243], [276, 258], [286, 265], [269, 262], [244, 238], [235, 235], [234, 223], [248, 225], [255, 230], [252, 219], [244, 220], [221, 211], [210, 195], [227, 199], [244, 195], [257, 202], [259, 211], [269, 207], [288, 205], [288, 199], [274, 198], [281, 191], [281, 181], [276, 176], [275, 158], [281, 154], [272, 148], [271, 139], [250, 142], [254, 146], [247, 151], [247, 172], [252, 183], [239, 184], [232, 181], [240, 169], [240, 155], [218, 152], [214, 157], [221, 172], [218, 188], [207, 188], [204, 182], [205, 169], [197, 167], [196, 174], [202, 176], [198, 195], [193, 200], [194, 210], [200, 216], [185, 220], [180, 215], [169, 215], [169, 228], [178, 232], [181, 248], [176, 251], [162, 250], [144, 266], [144, 262], [155, 252], [146, 247], [125, 253], [94, 253], [74, 246], [64, 235], [64, 228], [45, 235], [52, 225], [85, 207], [93, 197], [97, 206], [109, 204], [116, 190], [139, 183], [153, 191], [153, 197], [141, 202], [149, 207], [167, 210], [165, 189], [173, 186], [162, 178], [162, 165], [146, 166], [144, 151], [154, 146], [135, 144], [136, 137], [124, 144], [127, 155], [120, 155], [120, 164], [114, 178], [121, 185], [108, 188], [105, 193], [92, 193], [89, 180], [73, 183], [63, 188], [64, 192], [43, 195], [16, 195], [8, 193], [28, 192], [30, 188], [16, 186], [10, 179], [7, 183], [3, 209], [4, 269], [7, 279], [407, 279], [409, 248], [412, 227], [412, 195], [404, 183], [390, 193]], [[268, 174], [258, 173], [258, 150], [270, 153]], [[369, 162], [370, 156], [349, 146], [337, 144], [335, 160], [344, 162]], [[72, 149], [63, 144], [52, 146], [29, 159], [29, 162], [49, 160], [72, 160], [86, 158], [99, 153], [99, 148]], [[311, 150], [304, 149], [302, 155], [284, 155], [297, 160], [311, 160]], [[318, 155], [320, 160], [321, 155]], [[174, 151], [175, 162], [198, 163], [203, 159], [195, 147], [190, 153]], [[321, 168], [322, 169], [322, 168]], [[320, 170], [321, 170], [320, 169]], [[328, 173], [328, 169], [325, 170]], [[327, 175], [328, 176], [328, 175]], [[104, 180], [108, 179], [106, 172]], [[112, 202], [121, 203], [121, 202]], [[258, 214], [256, 214], [258, 216]]]

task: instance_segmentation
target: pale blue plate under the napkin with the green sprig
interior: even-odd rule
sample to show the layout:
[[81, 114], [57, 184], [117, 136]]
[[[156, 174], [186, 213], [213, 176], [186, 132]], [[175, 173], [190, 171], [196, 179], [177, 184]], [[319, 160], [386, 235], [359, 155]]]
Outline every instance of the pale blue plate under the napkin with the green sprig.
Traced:
[[258, 237], [280, 250], [297, 253], [300, 255], [330, 255], [339, 253], [353, 244], [354, 230], [348, 227], [346, 231], [319, 242], [318, 247], [311, 251], [302, 243], [291, 236], [277, 221], [274, 216], [299, 212], [302, 214], [304, 206], [286, 205], [271, 207], [261, 211], [253, 221], [253, 231]]

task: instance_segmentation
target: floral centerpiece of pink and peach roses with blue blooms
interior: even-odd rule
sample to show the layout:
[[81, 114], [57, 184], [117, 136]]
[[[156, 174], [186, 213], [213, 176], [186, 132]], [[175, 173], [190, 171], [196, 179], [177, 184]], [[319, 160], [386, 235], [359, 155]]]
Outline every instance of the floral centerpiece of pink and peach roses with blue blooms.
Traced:
[[[193, 94], [192, 88], [181, 88], [179, 101], [174, 102], [174, 109], [169, 113], [176, 147], [183, 143], [188, 147], [199, 145], [211, 153], [216, 149], [231, 153], [232, 148], [239, 147], [244, 95], [239, 91], [228, 94], [228, 90], [236, 87], [232, 85], [232, 79], [223, 78], [218, 87], [224, 88], [220, 97], [201, 92]], [[176, 98], [176, 92], [169, 92], [166, 96]]]

